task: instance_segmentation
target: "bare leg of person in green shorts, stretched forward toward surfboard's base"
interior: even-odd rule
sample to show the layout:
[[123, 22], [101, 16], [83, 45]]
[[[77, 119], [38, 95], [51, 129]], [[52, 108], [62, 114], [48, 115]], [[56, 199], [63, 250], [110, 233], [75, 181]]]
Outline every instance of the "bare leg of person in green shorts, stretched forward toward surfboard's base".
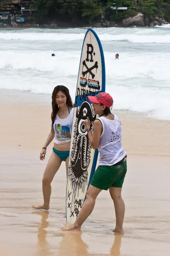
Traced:
[[77, 220], [74, 222], [74, 224], [66, 224], [66, 226], [63, 227], [62, 230], [80, 231], [82, 224], [85, 222], [85, 220], [88, 218], [88, 216], [93, 211], [96, 197], [99, 195], [99, 193], [101, 191], [102, 191], [102, 189], [98, 189], [98, 188], [90, 185], [88, 188], [88, 191], [86, 193], [85, 202], [82, 205], [82, 208], [79, 212]]

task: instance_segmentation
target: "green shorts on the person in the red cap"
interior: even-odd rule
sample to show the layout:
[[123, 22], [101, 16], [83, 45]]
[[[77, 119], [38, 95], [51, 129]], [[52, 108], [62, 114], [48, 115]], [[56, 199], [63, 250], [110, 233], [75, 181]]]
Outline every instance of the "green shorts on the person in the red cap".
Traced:
[[112, 166], [98, 166], [91, 180], [91, 185], [98, 189], [110, 187], [122, 188], [127, 172], [127, 162]]

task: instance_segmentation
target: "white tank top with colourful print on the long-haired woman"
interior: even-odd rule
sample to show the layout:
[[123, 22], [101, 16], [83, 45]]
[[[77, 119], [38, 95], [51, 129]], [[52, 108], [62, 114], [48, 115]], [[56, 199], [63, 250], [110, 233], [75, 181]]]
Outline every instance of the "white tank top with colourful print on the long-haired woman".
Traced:
[[65, 119], [60, 119], [58, 114], [54, 121], [54, 143], [65, 144], [71, 141], [71, 130], [73, 124], [74, 108], [71, 109], [69, 115]]

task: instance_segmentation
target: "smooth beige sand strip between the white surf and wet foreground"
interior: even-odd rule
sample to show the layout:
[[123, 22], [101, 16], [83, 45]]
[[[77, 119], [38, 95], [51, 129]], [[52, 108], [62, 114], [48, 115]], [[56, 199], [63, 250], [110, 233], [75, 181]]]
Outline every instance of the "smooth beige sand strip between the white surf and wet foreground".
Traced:
[[[1, 92], [0, 147], [42, 148], [51, 129], [51, 95], [12, 90]], [[170, 156], [170, 121], [114, 108], [113, 113], [121, 120], [122, 143], [127, 154]]]

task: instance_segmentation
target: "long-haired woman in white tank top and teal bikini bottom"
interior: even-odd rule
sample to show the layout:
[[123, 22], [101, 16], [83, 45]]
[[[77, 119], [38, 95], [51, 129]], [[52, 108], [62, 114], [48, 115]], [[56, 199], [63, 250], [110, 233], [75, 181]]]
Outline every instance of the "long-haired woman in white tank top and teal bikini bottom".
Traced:
[[74, 108], [68, 88], [63, 85], [56, 86], [52, 93], [51, 131], [40, 152], [40, 160], [43, 161], [47, 147], [54, 139], [53, 151], [42, 178], [44, 203], [41, 205], [32, 205], [34, 209], [49, 209], [51, 182], [62, 161], [65, 161], [66, 172], [68, 172], [73, 113]]

